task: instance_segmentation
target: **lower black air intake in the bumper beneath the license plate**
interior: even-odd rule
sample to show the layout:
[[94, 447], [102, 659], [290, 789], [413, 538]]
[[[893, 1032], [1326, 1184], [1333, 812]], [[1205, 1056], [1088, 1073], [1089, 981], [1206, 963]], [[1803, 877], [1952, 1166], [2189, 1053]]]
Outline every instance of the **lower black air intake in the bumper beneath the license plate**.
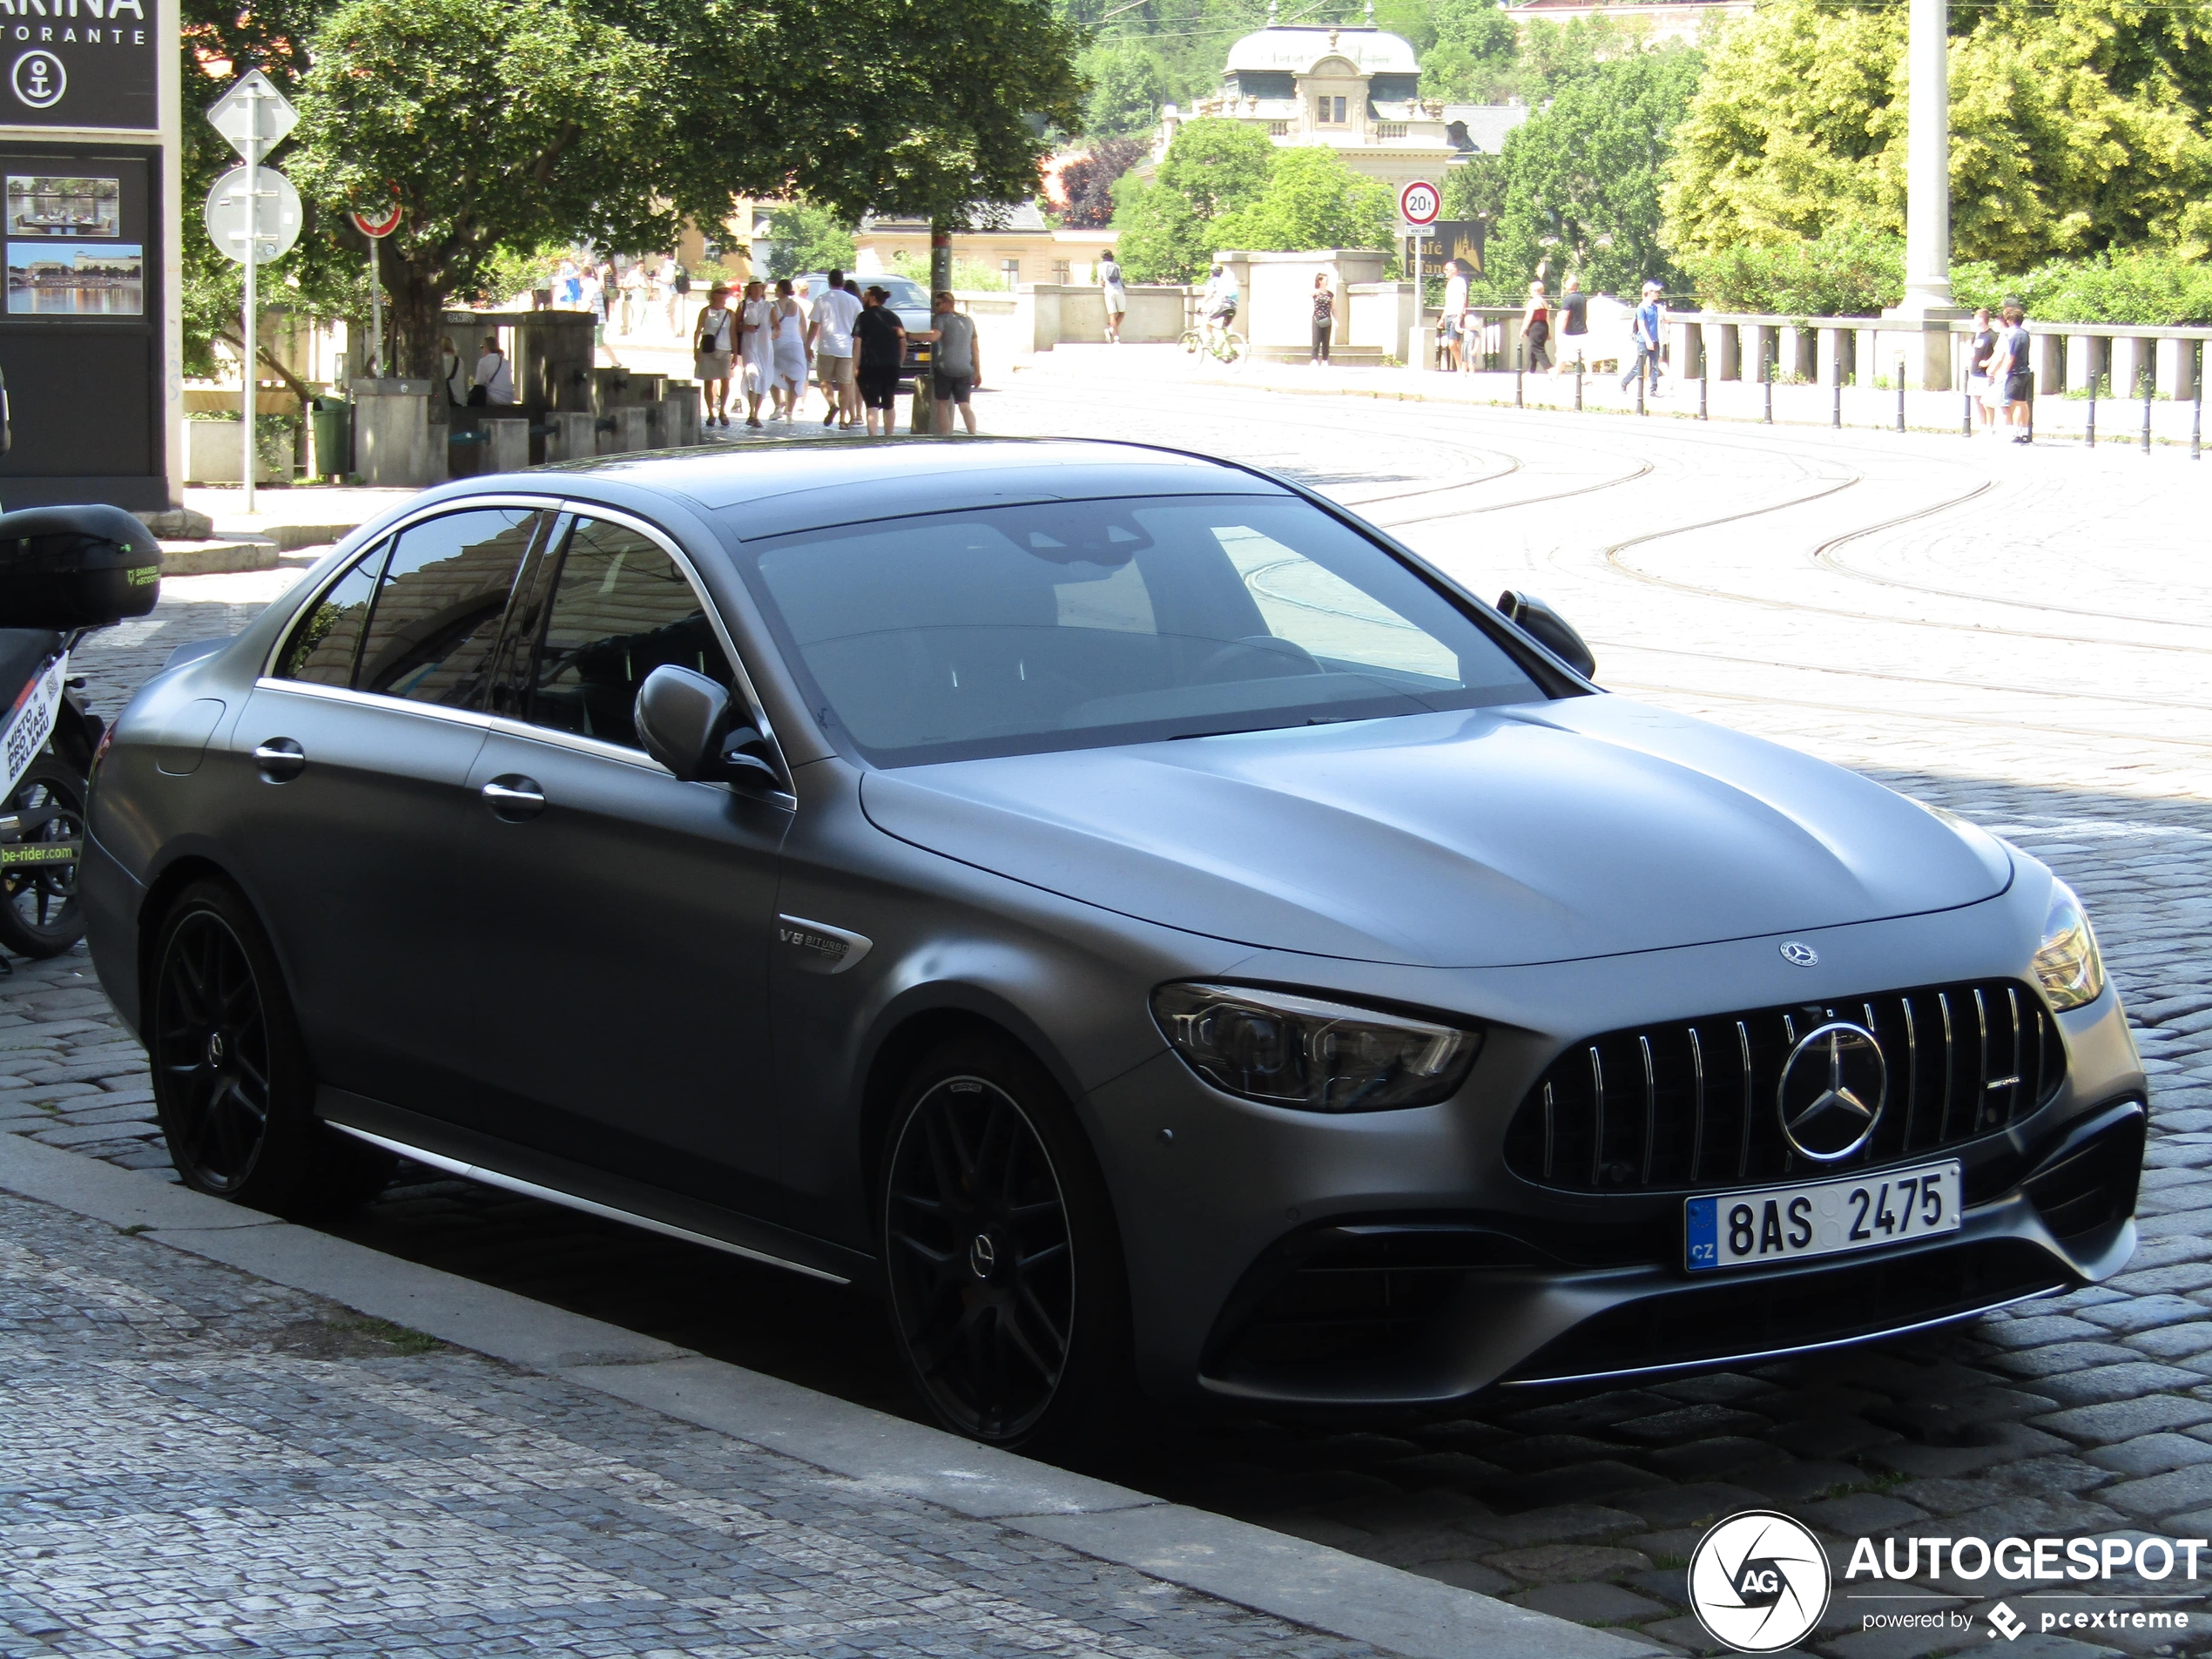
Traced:
[[1723, 1279], [1608, 1307], [1515, 1365], [1504, 1380], [1553, 1383], [1849, 1343], [1964, 1318], [2066, 1283], [2066, 1270], [2042, 1245], [2022, 1239]]

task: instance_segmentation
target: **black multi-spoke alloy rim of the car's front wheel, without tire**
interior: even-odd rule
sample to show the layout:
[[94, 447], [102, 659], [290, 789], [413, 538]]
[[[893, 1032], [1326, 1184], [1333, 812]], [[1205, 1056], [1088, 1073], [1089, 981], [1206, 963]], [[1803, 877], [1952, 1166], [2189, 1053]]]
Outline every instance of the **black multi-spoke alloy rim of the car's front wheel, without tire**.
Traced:
[[1104, 1272], [1077, 1261], [1084, 1228], [1033, 1117], [1044, 1102], [1024, 1108], [1004, 1071], [925, 1068], [883, 1183], [891, 1323], [909, 1374], [947, 1427], [991, 1444], [1031, 1438], [1071, 1394], [1097, 1301], [1079, 1274]]

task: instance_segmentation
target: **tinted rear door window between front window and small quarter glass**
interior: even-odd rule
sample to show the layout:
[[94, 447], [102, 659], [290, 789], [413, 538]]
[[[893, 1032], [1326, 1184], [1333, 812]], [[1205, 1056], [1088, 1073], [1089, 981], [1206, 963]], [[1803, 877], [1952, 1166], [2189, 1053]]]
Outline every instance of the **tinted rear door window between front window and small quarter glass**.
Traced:
[[507, 595], [546, 520], [529, 507], [478, 507], [409, 524], [376, 591], [356, 688], [478, 708]]

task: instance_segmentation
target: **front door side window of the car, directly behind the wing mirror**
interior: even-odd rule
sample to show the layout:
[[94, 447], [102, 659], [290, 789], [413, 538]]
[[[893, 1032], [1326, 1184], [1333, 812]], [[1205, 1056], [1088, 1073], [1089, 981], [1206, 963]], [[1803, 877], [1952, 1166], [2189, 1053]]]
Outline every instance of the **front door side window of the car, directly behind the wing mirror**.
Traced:
[[580, 518], [546, 606], [529, 721], [644, 748], [633, 717], [637, 688], [664, 664], [737, 690], [706, 599], [684, 568], [628, 524]]

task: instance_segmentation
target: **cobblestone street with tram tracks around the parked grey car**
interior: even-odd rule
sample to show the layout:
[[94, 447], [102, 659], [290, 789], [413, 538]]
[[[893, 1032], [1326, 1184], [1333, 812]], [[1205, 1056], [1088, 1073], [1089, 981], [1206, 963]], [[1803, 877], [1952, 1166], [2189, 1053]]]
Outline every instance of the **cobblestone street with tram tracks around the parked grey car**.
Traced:
[[[1053, 374], [987, 396], [982, 416], [1292, 471], [1482, 593], [1555, 602], [1608, 686], [1860, 768], [2028, 847], [2090, 905], [2157, 1091], [2143, 1250], [2110, 1285], [1871, 1349], [1449, 1418], [1164, 1422], [1093, 1449], [1086, 1469], [1683, 1648], [1705, 1644], [1683, 1613], [1683, 1559], [1710, 1517], [1743, 1506], [1807, 1520], [1838, 1564], [1856, 1537], [1893, 1531], [2212, 1533], [2212, 575], [2197, 557], [2212, 469]], [[117, 697], [288, 580], [173, 584], [155, 617], [95, 644], [95, 690]], [[82, 958], [20, 967], [0, 1004], [0, 1128], [161, 1161], [142, 1055]], [[874, 1310], [796, 1279], [453, 1181], [403, 1179], [343, 1232], [911, 1409]], [[1980, 1610], [2000, 1586], [1931, 1588]], [[2192, 1608], [2179, 1646], [2212, 1646], [2205, 1601], [2141, 1606]], [[1980, 1624], [1942, 1639], [1858, 1624], [1838, 1599], [1814, 1646], [1905, 1659], [1989, 1639]], [[2095, 1641], [2108, 1648], [2028, 1637], [2006, 1652], [2174, 1637]]]

